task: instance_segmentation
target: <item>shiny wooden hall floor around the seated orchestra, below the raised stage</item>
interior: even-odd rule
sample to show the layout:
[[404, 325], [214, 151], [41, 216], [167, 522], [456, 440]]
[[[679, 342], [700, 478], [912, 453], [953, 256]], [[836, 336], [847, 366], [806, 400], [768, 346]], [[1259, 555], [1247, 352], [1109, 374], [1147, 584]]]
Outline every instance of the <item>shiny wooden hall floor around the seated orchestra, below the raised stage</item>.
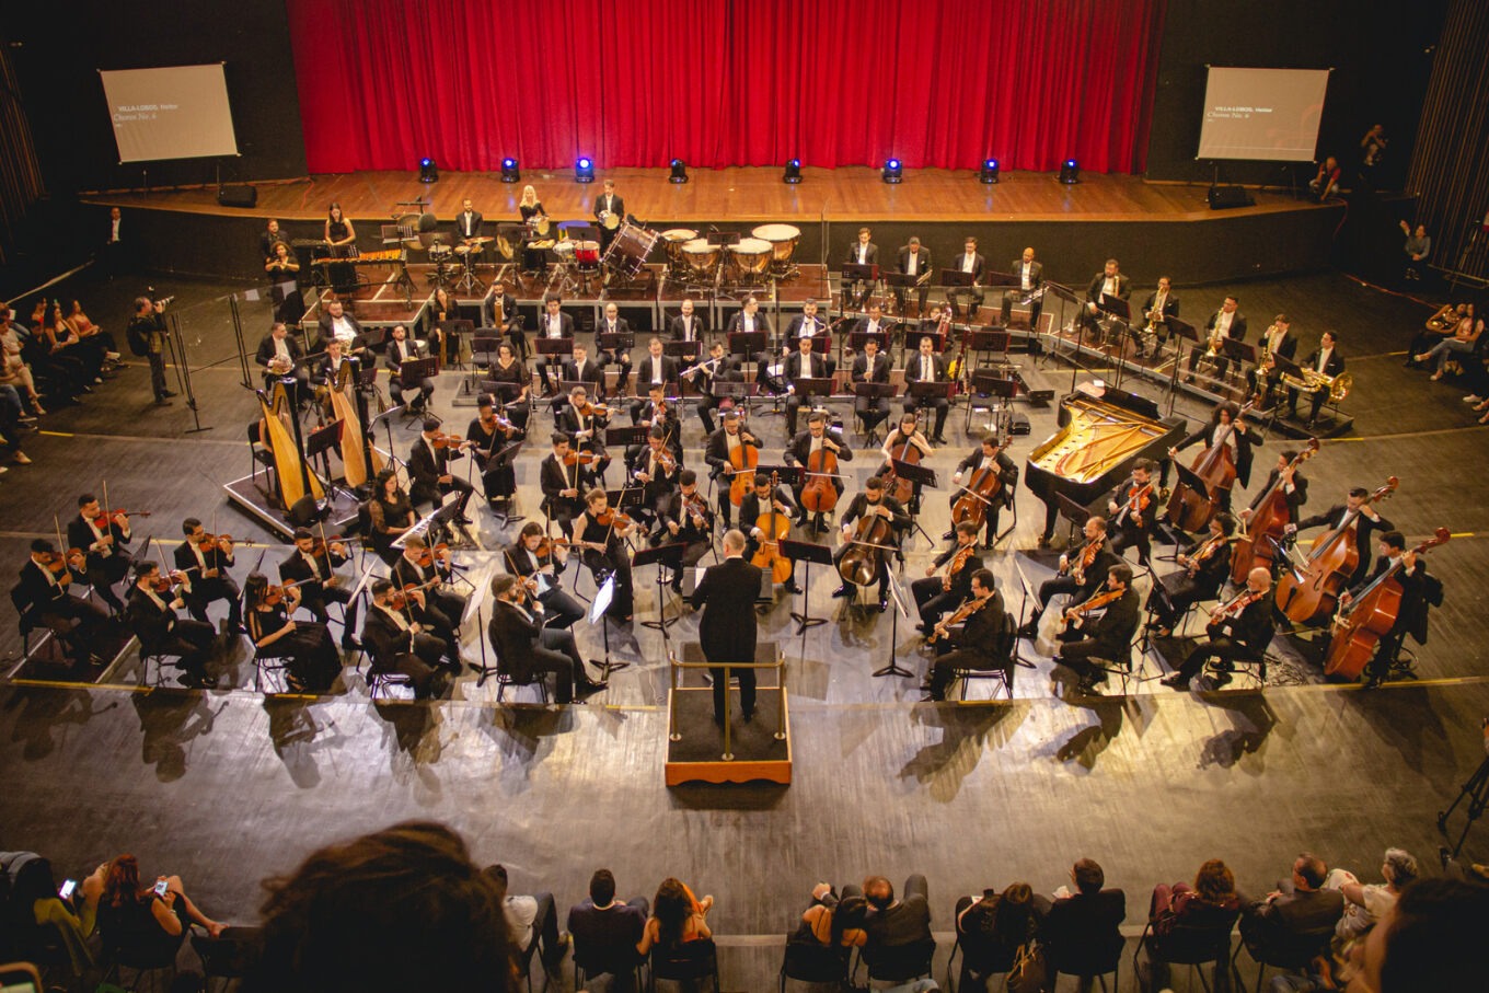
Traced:
[[[159, 287], [159, 284], [158, 284]], [[161, 287], [162, 290], [167, 287]], [[51, 536], [54, 514], [73, 511], [76, 493], [107, 481], [110, 499], [150, 511], [135, 533], [173, 540], [186, 515], [210, 520], [250, 546], [240, 573], [258, 560], [268, 534], [231, 509], [220, 482], [247, 473], [243, 441], [255, 412], [238, 384], [235, 350], [220, 283], [171, 286], [179, 293], [201, 420], [180, 400], [149, 405], [140, 363], [88, 397], [85, 406], [45, 418], [28, 439], [31, 466], [0, 479], [7, 523], [0, 549], [15, 564], [25, 543]], [[88, 289], [88, 310], [104, 326], [124, 323], [133, 281]], [[636, 627], [612, 637], [631, 662], [609, 692], [588, 706], [542, 710], [494, 706], [494, 688], [462, 680], [453, 700], [372, 704], [359, 676], [317, 698], [265, 698], [252, 691], [244, 654], [222, 658], [223, 689], [140, 691], [133, 664], [104, 685], [25, 680], [0, 689], [0, 792], [3, 847], [39, 849], [66, 871], [86, 869], [134, 850], [146, 871], [182, 872], [210, 913], [250, 919], [258, 880], [284, 871], [314, 844], [401, 817], [436, 817], [457, 826], [479, 859], [502, 861], [518, 889], [551, 889], [560, 907], [582, 896], [600, 863], [616, 869], [627, 893], [655, 889], [676, 874], [713, 892], [724, 987], [774, 984], [779, 941], [819, 878], [865, 872], [931, 880], [935, 929], [950, 930], [954, 898], [983, 884], [1026, 878], [1042, 890], [1065, 881], [1081, 855], [1100, 861], [1129, 892], [1136, 932], [1155, 881], [1193, 875], [1200, 861], [1225, 858], [1242, 887], [1270, 887], [1298, 850], [1373, 877], [1380, 850], [1400, 844], [1431, 863], [1434, 816], [1483, 759], [1479, 719], [1489, 713], [1485, 680], [1486, 618], [1480, 590], [1489, 581], [1489, 531], [1479, 466], [1485, 429], [1473, 426], [1462, 390], [1401, 369], [1412, 329], [1429, 308], [1342, 275], [1185, 290], [1185, 311], [1205, 313], [1227, 292], [1242, 298], [1251, 323], [1288, 311], [1304, 350], [1318, 331], [1336, 328], [1356, 377], [1348, 408], [1355, 433], [1325, 442], [1309, 464], [1313, 509], [1349, 485], [1401, 478], [1383, 509], [1409, 536], [1437, 526], [1456, 536], [1432, 554], [1447, 585], [1432, 637], [1413, 646], [1419, 682], [1364, 694], [1324, 685], [1306, 646], [1278, 643], [1297, 657], [1291, 685], [1178, 694], [1155, 682], [1127, 695], [1074, 694], [1048, 660], [1020, 670], [1013, 704], [917, 704], [917, 679], [876, 679], [870, 671], [895, 652], [917, 674], [919, 636], [890, 618], [853, 618], [829, 598], [835, 578], [816, 575], [812, 609], [831, 622], [794, 639], [786, 615], [800, 598], [782, 597], [762, 618], [762, 636], [788, 646], [797, 761], [791, 788], [677, 788], [661, 780], [666, 668], [661, 637]], [[247, 305], [246, 326], [264, 311]], [[1071, 371], [1020, 356], [1036, 386], [1063, 393]], [[450, 377], [436, 408], [451, 411]], [[1157, 392], [1152, 392], [1157, 395]], [[1023, 405], [1021, 405], [1023, 406]], [[1181, 400], [1178, 412], [1203, 415]], [[1033, 433], [1014, 441], [1021, 463], [1054, 429], [1054, 408], [1029, 409]], [[543, 415], [538, 417], [545, 424]], [[779, 451], [777, 417], [756, 427]], [[406, 447], [414, 432], [398, 432]], [[971, 447], [953, 412], [951, 445], [931, 464], [943, 476]], [[701, 429], [689, 421], [686, 460], [701, 456]], [[1279, 447], [1260, 450], [1264, 467]], [[520, 491], [536, 508], [536, 459], [520, 463]], [[849, 488], [877, 464], [867, 453], [849, 463]], [[1261, 473], [1254, 479], [1260, 484]], [[1254, 490], [1252, 490], [1254, 491]], [[1249, 499], [1249, 493], [1246, 497]], [[1239, 500], [1237, 500], [1239, 502]], [[926, 500], [923, 524], [946, 530], [947, 506]], [[992, 555], [1017, 606], [1015, 560], [1030, 549], [1042, 505], [1020, 494], [1014, 534]], [[502, 530], [481, 512], [482, 539]], [[280, 548], [268, 549], [274, 563]], [[923, 572], [931, 548], [910, 545], [905, 578]], [[1024, 566], [1030, 569], [1030, 566]], [[637, 575], [637, 618], [655, 616], [655, 598]], [[588, 581], [581, 582], [588, 593]], [[669, 607], [675, 610], [675, 607]], [[672, 639], [694, 637], [688, 616]], [[597, 631], [579, 634], [597, 658]], [[7, 625], [0, 648], [18, 661]], [[1161, 646], [1181, 651], [1181, 645]], [[350, 662], [350, 660], [348, 660]], [[1154, 654], [1148, 673], [1161, 671]], [[977, 688], [974, 697], [986, 695]], [[1489, 843], [1470, 834], [1468, 853]], [[943, 941], [944, 963], [950, 938]], [[1124, 980], [1126, 989], [1127, 980]]]

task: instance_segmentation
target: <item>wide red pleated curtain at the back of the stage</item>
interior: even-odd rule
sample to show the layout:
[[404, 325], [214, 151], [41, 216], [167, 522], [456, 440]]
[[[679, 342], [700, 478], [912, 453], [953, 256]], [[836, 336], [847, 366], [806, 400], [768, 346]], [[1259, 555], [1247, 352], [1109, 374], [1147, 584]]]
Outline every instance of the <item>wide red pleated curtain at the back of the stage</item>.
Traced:
[[313, 173], [1142, 171], [1164, 0], [287, 0]]

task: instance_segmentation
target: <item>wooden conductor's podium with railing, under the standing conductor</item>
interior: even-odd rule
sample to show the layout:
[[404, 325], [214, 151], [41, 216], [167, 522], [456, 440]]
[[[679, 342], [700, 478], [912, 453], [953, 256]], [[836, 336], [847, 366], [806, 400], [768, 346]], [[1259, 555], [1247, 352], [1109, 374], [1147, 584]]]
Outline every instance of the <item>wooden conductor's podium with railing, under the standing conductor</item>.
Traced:
[[[670, 655], [667, 689], [669, 786], [682, 783], [791, 783], [791, 731], [786, 710], [786, 664], [776, 642], [758, 642], [755, 718], [744, 724], [737, 691], [730, 689], [724, 727], [713, 724], [713, 688], [703, 680], [709, 662], [697, 642]], [[774, 673], [774, 677], [771, 676]]]

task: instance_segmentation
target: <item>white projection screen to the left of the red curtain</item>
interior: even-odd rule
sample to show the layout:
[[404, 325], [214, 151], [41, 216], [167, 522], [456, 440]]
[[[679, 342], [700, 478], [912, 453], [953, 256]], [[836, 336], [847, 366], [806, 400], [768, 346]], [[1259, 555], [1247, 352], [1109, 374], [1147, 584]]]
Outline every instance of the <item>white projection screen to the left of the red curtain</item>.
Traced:
[[223, 64], [98, 70], [119, 162], [238, 153]]

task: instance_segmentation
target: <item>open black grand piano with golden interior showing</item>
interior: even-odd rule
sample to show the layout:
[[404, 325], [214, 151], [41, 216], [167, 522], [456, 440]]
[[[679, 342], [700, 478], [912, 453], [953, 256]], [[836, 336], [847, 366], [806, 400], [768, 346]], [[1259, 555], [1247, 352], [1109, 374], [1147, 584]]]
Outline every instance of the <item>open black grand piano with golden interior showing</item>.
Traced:
[[1167, 459], [1185, 432], [1182, 417], [1160, 418], [1152, 400], [1093, 383], [1060, 400], [1059, 423], [1024, 463], [1024, 485], [1045, 505], [1044, 542], [1060, 515], [1057, 493], [1090, 506], [1126, 479], [1138, 459]]

